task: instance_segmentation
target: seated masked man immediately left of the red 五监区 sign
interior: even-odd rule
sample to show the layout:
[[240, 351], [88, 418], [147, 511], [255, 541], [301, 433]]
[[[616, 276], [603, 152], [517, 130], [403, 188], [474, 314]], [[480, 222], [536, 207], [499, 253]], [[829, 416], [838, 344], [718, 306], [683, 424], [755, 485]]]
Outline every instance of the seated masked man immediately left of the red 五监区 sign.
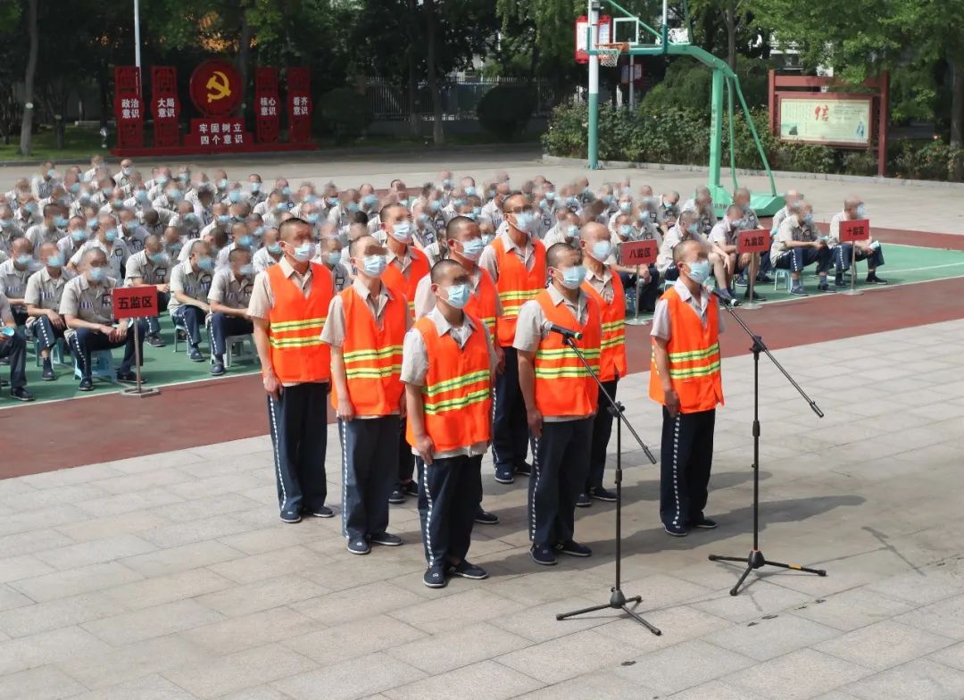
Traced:
[[[140, 348], [134, 346], [135, 334], [127, 321], [114, 321], [114, 304], [111, 293], [118, 281], [108, 277], [110, 266], [107, 256], [99, 248], [88, 250], [81, 260], [81, 274], [64, 287], [61, 298], [61, 315], [67, 321], [67, 342], [74, 359], [80, 365], [80, 390], [94, 390], [91, 378], [93, 366], [91, 353], [97, 350], [111, 350], [123, 346], [123, 360], [118, 368], [117, 381], [121, 384], [136, 384], [137, 375], [131, 371], [137, 354], [144, 358], [144, 337], [147, 324], [137, 319], [140, 325]], [[147, 381], [141, 377], [141, 381]]]

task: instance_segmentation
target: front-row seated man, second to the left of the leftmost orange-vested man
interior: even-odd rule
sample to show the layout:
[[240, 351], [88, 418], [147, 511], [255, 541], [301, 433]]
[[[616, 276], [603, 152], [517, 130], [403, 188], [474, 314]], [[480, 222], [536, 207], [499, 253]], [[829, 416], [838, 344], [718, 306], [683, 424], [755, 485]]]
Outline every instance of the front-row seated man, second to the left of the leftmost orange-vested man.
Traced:
[[174, 265], [171, 272], [171, 320], [174, 333], [180, 326], [187, 335], [188, 358], [193, 363], [204, 362], [201, 355], [201, 328], [204, 318], [210, 311], [207, 305], [207, 292], [211, 288], [211, 275], [214, 271], [214, 258], [207, 241], [198, 239], [191, 242], [191, 255], [184, 262]]

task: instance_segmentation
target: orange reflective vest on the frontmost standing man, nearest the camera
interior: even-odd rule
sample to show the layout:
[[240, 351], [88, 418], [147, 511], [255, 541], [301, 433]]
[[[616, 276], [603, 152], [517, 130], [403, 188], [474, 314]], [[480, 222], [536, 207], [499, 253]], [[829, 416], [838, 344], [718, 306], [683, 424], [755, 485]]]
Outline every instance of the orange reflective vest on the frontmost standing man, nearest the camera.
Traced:
[[[435, 322], [428, 316], [415, 321], [428, 354], [428, 373], [422, 387], [425, 432], [435, 444], [436, 453], [477, 443], [488, 443], [492, 421], [492, 367], [489, 343], [482, 322], [475, 326], [465, 347], [451, 334], [439, 336]], [[415, 445], [412, 421], [408, 421], [406, 440]]]

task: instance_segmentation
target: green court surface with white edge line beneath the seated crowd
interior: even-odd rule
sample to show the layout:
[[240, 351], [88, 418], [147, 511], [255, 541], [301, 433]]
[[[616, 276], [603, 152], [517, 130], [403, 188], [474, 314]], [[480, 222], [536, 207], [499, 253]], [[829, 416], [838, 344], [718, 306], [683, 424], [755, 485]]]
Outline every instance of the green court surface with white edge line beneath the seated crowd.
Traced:
[[[964, 251], [949, 251], [935, 248], [918, 248], [913, 246], [902, 246], [897, 244], [885, 244], [884, 254], [886, 265], [880, 269], [880, 276], [885, 278], [891, 286], [898, 284], [910, 284], [943, 280], [952, 277], [964, 277]], [[866, 276], [867, 267], [865, 263], [858, 262], [858, 286], [863, 285], [863, 278]], [[848, 278], [849, 279], [849, 278]], [[804, 285], [814, 296], [817, 295], [817, 277], [813, 273], [813, 268], [808, 268], [804, 274]], [[863, 285], [866, 286], [866, 285]], [[737, 288], [737, 291], [742, 291]], [[766, 297], [765, 304], [774, 302], [789, 301], [799, 299], [790, 295], [787, 286], [781, 280], [778, 290], [774, 291], [773, 284], [763, 284], [758, 287], [763, 296]], [[822, 295], [821, 295], [822, 296]], [[168, 343], [167, 347], [153, 348], [145, 344], [145, 363], [144, 376], [147, 377], [147, 386], [163, 387], [166, 385], [180, 384], [184, 382], [195, 382], [209, 379], [218, 381], [208, 374], [209, 364], [192, 363], [187, 358], [185, 352], [186, 345], [181, 343], [180, 352], [174, 353], [174, 328], [171, 319], [165, 313], [161, 317], [162, 336]], [[247, 344], [246, 344], [247, 349]], [[201, 352], [207, 352], [207, 341], [201, 344]], [[114, 351], [115, 362], [120, 362], [121, 351]], [[69, 362], [69, 358], [67, 358]], [[77, 390], [78, 382], [73, 378], [73, 365], [54, 365], [58, 373], [56, 382], [41, 382], [40, 368], [36, 365], [33, 354], [33, 342], [28, 343], [27, 357], [27, 380], [29, 389], [37, 397], [38, 401], [53, 401], [57, 399], [72, 398], [75, 396], [96, 396], [107, 391], [120, 390], [119, 385], [110, 385], [105, 382], [94, 380], [94, 391], [81, 392]], [[240, 374], [251, 374], [258, 370], [257, 363], [252, 360], [243, 360], [234, 363], [228, 369], [226, 377], [237, 376]], [[0, 367], [0, 376], [7, 378], [7, 367]], [[23, 406], [14, 402], [7, 394], [7, 390], [0, 393], [0, 409]]]

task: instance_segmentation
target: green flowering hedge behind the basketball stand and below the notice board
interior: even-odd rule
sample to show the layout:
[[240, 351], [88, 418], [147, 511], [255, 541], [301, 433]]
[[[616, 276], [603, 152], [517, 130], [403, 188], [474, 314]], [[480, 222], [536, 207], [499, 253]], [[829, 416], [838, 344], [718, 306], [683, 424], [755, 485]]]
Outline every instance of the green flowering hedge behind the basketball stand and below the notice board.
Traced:
[[[785, 144], [769, 132], [765, 109], [751, 110], [763, 151], [773, 170], [797, 173], [876, 175], [876, 151]], [[542, 136], [550, 155], [586, 157], [588, 114], [584, 103], [555, 108]], [[762, 169], [763, 160], [742, 114], [734, 120], [736, 167]], [[641, 163], [708, 165], [710, 118], [702, 109], [667, 108], [635, 113], [600, 106], [600, 158]], [[723, 123], [723, 166], [730, 164], [729, 124]], [[888, 154], [888, 175], [912, 179], [964, 180], [964, 149], [940, 141], [900, 142]]]

